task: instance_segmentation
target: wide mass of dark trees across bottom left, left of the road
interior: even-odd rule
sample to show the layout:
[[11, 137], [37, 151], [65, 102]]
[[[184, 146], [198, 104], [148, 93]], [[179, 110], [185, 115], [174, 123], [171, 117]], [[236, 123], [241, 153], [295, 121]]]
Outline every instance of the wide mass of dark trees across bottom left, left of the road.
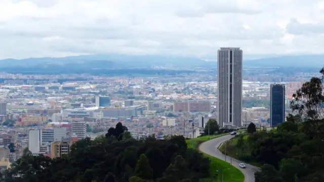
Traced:
[[[26, 149], [10, 170], [6, 182], [148, 182], [197, 181], [209, 176], [208, 158], [187, 149], [183, 136], [169, 140], [135, 140], [118, 123], [105, 136], [86, 138], [72, 145], [68, 155], [51, 159], [33, 156]], [[123, 138], [127, 136], [127, 138]]]

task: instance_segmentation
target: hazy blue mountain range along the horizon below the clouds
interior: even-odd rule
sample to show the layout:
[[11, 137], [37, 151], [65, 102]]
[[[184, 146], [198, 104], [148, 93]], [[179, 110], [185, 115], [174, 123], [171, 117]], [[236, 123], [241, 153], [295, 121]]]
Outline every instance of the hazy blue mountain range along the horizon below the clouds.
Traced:
[[[278, 56], [256, 60], [244, 60], [249, 67], [323, 67], [324, 55]], [[217, 67], [216, 62], [189, 57], [88, 55], [65, 58], [28, 58], [0, 60], [0, 68], [73, 68], [73, 69], [131, 69], [131, 68], [192, 68]]]

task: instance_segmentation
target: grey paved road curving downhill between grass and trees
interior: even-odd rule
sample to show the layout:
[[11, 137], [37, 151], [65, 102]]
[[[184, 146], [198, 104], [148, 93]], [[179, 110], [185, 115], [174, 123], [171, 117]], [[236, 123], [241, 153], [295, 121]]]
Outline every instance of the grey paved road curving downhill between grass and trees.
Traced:
[[[211, 156], [214, 156], [216, 158], [219, 158], [223, 161], [225, 161], [225, 155], [222, 154], [219, 150], [218, 150], [218, 147], [225, 141], [233, 138], [234, 136], [233, 135], [225, 135], [225, 136], [221, 136], [219, 138], [216, 138], [216, 139], [213, 139], [213, 140], [210, 140], [210, 141], [207, 141], [207, 142], [204, 142], [202, 144], [200, 144], [199, 146], [199, 150], [201, 152], [204, 152], [208, 155], [211, 155]], [[229, 162], [230, 163], [230, 157], [227, 156], [226, 157], [226, 162]], [[232, 165], [236, 168], [238, 168], [240, 171], [242, 171], [242, 173], [244, 174], [244, 177], [245, 177], [245, 182], [254, 182], [254, 173], [256, 171], [259, 170], [258, 167], [256, 166], [253, 166], [253, 165], [250, 165], [250, 164], [246, 164], [245, 165], [247, 166], [247, 168], [245, 169], [242, 169], [238, 166], [239, 163], [244, 163], [244, 162], [241, 162], [237, 159], [234, 159], [232, 158]]]

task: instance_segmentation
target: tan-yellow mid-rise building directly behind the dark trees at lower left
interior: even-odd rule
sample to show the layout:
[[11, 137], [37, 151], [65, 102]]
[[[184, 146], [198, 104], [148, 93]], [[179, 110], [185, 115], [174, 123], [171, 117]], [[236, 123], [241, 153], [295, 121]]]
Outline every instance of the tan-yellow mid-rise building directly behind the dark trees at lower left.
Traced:
[[64, 139], [61, 142], [53, 142], [51, 145], [51, 157], [61, 157], [63, 154], [70, 153], [70, 148], [73, 142]]

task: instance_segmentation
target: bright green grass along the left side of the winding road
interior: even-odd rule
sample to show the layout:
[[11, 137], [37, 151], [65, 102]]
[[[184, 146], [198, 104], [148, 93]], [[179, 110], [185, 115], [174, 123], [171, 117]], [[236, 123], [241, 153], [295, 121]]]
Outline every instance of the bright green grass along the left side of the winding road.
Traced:
[[[229, 133], [226, 133], [229, 134]], [[210, 135], [210, 136], [201, 136], [199, 138], [193, 139], [194, 141], [194, 148], [197, 149], [197, 145], [218, 138], [220, 136], [224, 136], [226, 134], [219, 134], [219, 135]], [[192, 139], [187, 140], [188, 148], [193, 148], [192, 146]], [[243, 182], [244, 181], [244, 175], [241, 171], [239, 171], [234, 166], [231, 166], [228, 162], [222, 161], [216, 157], [204, 154], [204, 156], [208, 157], [211, 160], [211, 177], [208, 179], [201, 179], [201, 181], [221, 181], [221, 173], [223, 170], [223, 181], [224, 182]], [[216, 173], [218, 170], [218, 176], [216, 177]], [[232, 180], [231, 180], [232, 179]]]

